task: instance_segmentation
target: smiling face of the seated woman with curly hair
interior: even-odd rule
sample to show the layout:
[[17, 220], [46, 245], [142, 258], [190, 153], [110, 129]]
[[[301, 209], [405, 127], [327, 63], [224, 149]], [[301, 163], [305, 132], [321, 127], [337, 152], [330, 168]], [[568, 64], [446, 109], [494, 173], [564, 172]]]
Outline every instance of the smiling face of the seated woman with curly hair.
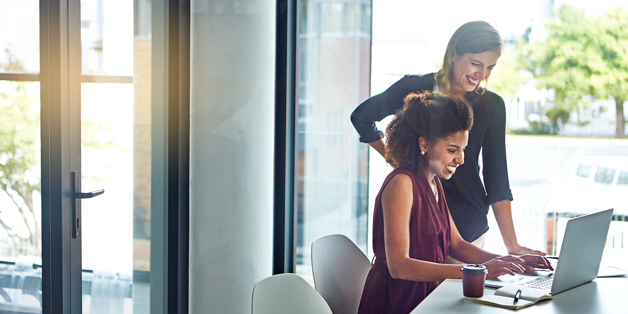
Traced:
[[467, 147], [468, 135], [468, 131], [458, 131], [448, 138], [439, 139], [435, 144], [428, 144], [425, 153], [428, 159], [425, 175], [428, 179], [434, 175], [445, 180], [452, 177], [458, 166], [465, 162], [464, 149]]

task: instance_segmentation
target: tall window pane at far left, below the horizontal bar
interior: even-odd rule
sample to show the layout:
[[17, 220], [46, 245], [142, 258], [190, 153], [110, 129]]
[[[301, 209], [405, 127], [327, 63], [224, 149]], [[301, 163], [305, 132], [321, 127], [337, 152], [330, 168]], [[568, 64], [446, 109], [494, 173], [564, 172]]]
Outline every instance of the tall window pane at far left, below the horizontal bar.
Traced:
[[0, 289], [4, 302], [35, 311], [41, 310], [41, 268], [33, 268], [41, 265], [39, 94], [39, 82], [0, 80]]

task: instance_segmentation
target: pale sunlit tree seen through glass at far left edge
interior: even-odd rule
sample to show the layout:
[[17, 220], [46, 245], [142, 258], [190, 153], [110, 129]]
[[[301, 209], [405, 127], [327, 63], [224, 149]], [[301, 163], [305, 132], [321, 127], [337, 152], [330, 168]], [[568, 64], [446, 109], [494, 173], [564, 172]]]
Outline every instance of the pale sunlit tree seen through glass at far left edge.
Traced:
[[[10, 51], [6, 55], [8, 61], [0, 63], [1, 69], [24, 70]], [[41, 193], [39, 90], [36, 83], [0, 83], [0, 188], [21, 216], [21, 221], [15, 221], [9, 218], [13, 208], [0, 208], [0, 227], [10, 242], [5, 253], [41, 256], [40, 219], [33, 205], [33, 197]]]

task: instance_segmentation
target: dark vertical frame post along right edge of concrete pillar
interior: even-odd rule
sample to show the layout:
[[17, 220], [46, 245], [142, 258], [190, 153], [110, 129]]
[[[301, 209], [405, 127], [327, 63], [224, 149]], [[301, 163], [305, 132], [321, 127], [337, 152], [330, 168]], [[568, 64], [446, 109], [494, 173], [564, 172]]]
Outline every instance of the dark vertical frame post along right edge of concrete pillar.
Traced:
[[277, 0], [276, 8], [273, 274], [294, 273], [296, 266], [297, 3]]

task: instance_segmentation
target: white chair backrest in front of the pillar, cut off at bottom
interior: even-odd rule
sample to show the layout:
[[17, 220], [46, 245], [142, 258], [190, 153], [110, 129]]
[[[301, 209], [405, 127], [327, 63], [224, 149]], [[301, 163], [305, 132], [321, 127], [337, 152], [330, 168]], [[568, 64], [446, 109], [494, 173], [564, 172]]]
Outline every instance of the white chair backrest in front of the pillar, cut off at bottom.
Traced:
[[277, 274], [253, 287], [252, 314], [332, 314], [325, 300], [296, 274]]

